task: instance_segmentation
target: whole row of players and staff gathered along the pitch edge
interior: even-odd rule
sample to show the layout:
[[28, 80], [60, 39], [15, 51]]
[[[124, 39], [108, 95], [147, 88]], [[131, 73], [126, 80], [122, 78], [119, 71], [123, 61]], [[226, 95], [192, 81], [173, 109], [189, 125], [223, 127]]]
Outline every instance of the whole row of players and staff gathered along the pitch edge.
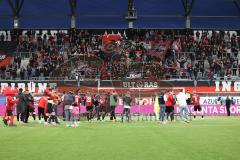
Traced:
[[[23, 90], [19, 89], [17, 95], [6, 96], [7, 104], [3, 117], [3, 122], [6, 126], [14, 125], [13, 112], [15, 110], [15, 106], [17, 121], [19, 124], [28, 123], [28, 117], [30, 115], [32, 115], [35, 120], [36, 113], [34, 98], [28, 90], [23, 93]], [[115, 93], [115, 91], [107, 92], [101, 90], [99, 93], [91, 93], [90, 91], [87, 91], [84, 95], [82, 95], [81, 92], [74, 94], [71, 91], [59, 94], [55, 90], [49, 89], [45, 91], [45, 94], [40, 97], [37, 103], [39, 123], [43, 123], [44, 125], [59, 125], [60, 122], [57, 117], [57, 110], [59, 111], [62, 109], [62, 116], [66, 126], [78, 127], [81, 104], [86, 106], [86, 117], [89, 122], [91, 122], [95, 117], [97, 121], [104, 121], [107, 113], [110, 113], [111, 121], [116, 121], [115, 109], [119, 97], [121, 97], [123, 101], [121, 122], [124, 121], [124, 117], [126, 117], [126, 120], [129, 122], [131, 119], [130, 108], [133, 104], [135, 104], [135, 98], [130, 94], [130, 92], [119, 96]], [[170, 118], [170, 121], [174, 121], [174, 106], [176, 102], [180, 106], [181, 121], [189, 123], [189, 101], [194, 104], [195, 118], [197, 111], [201, 111], [199, 103], [200, 97], [197, 93], [194, 93], [191, 96], [188, 92], [184, 93], [182, 90], [174, 92], [172, 90], [168, 90], [159, 94], [156, 93], [154, 100], [154, 112], [160, 124], [164, 124], [166, 122], [165, 115], [167, 120]]]

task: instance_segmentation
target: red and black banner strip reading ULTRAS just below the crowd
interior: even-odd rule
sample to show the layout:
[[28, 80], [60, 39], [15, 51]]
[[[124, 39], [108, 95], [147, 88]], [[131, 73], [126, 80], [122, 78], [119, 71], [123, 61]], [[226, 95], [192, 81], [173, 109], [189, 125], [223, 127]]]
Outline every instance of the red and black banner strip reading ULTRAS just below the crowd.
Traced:
[[33, 93], [43, 93], [47, 88], [55, 88], [59, 92], [63, 91], [77, 91], [79, 89], [98, 89], [98, 90], [157, 90], [157, 89], [171, 89], [176, 87], [185, 88], [193, 92], [196, 90], [198, 93], [202, 94], [237, 94], [240, 93], [240, 81], [230, 81], [230, 80], [201, 80], [201, 81], [191, 81], [191, 80], [125, 80], [125, 81], [98, 81], [98, 80], [63, 80], [63, 81], [51, 81], [51, 80], [27, 80], [27, 81], [0, 81], [0, 92], [4, 90], [6, 86], [11, 86], [12, 88], [23, 88], [25, 90], [28, 88], [29, 91]]

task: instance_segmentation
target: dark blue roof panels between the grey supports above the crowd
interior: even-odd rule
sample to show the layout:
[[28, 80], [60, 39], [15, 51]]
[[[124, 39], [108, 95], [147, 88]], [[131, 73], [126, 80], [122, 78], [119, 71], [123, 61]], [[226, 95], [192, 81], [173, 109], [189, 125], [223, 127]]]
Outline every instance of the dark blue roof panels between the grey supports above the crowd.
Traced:
[[[135, 28], [185, 28], [182, 0], [135, 0]], [[127, 28], [128, 0], [77, 0], [77, 28]], [[25, 0], [20, 28], [70, 28], [68, 0]], [[195, 0], [191, 28], [240, 29], [240, 0]], [[0, 28], [13, 28], [8, 0], [0, 0]]]

